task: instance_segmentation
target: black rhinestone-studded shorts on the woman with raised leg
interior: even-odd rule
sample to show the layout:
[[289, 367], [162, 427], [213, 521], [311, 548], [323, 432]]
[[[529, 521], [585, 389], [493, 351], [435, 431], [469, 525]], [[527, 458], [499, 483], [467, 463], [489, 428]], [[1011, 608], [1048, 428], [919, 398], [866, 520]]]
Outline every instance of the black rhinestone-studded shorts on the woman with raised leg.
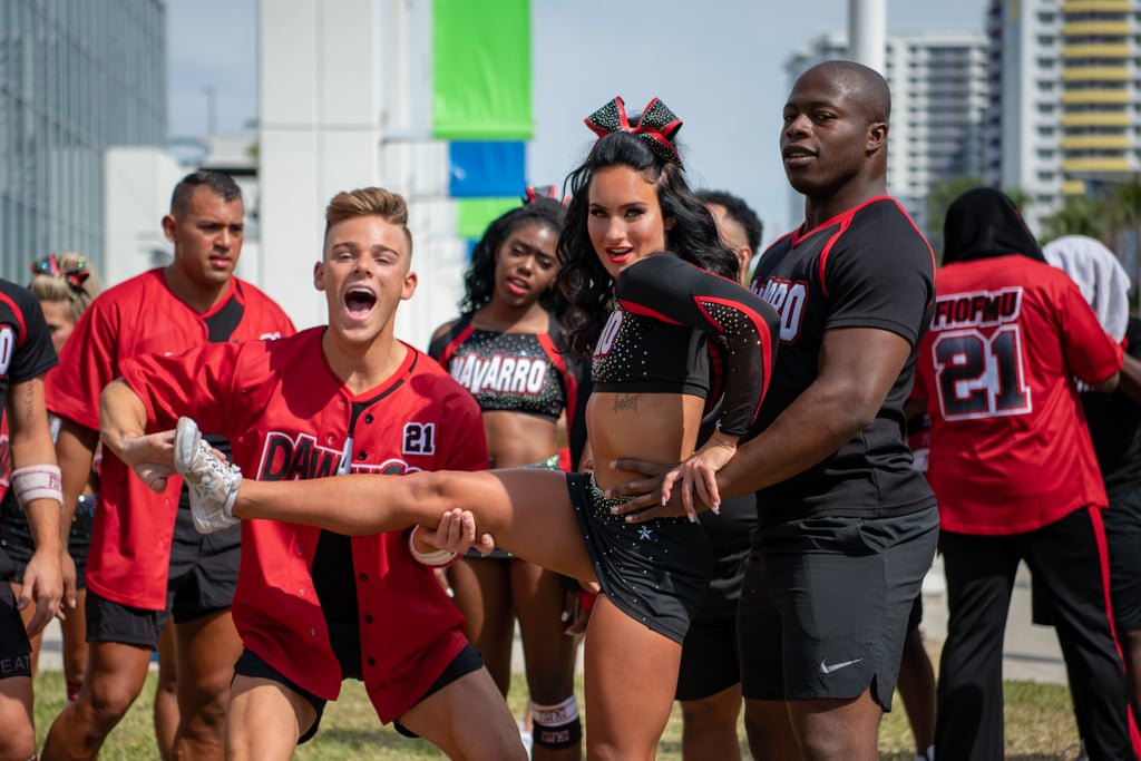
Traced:
[[628, 524], [592, 473], [567, 473], [570, 504], [607, 599], [659, 634], [681, 642], [713, 576], [705, 531], [686, 518]]

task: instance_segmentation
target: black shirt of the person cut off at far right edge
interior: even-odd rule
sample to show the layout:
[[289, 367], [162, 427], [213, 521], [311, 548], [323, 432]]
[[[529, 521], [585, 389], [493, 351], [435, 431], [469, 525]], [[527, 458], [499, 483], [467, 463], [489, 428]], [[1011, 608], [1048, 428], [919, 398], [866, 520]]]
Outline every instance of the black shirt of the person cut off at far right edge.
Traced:
[[[1130, 317], [1125, 329], [1125, 354], [1141, 359], [1141, 319], [1136, 317]], [[1109, 395], [1083, 394], [1082, 406], [1106, 492], [1112, 495], [1141, 486], [1141, 404], [1118, 387]]]

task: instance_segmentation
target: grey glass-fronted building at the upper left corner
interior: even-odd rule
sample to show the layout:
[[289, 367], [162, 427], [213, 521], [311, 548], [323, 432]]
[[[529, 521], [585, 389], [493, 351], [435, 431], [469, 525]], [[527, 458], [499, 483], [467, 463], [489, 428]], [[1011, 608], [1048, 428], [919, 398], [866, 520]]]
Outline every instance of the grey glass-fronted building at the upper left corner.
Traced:
[[0, 3], [0, 275], [104, 257], [104, 152], [167, 138], [164, 0]]

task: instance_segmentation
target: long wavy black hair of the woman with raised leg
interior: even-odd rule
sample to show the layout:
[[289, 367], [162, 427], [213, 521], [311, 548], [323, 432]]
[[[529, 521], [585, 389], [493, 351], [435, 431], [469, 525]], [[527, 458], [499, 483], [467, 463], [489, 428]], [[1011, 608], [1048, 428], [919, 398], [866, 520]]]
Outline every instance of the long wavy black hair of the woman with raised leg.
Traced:
[[681, 168], [657, 157], [633, 135], [610, 132], [594, 144], [586, 161], [566, 180], [572, 197], [559, 235], [563, 266], [556, 284], [568, 303], [560, 318], [563, 332], [570, 353], [577, 357], [593, 353], [609, 317], [606, 302], [614, 292], [614, 281], [602, 267], [588, 232], [590, 181], [593, 172], [607, 167], [629, 167], [655, 186], [663, 218], [675, 220], [665, 234], [671, 251], [715, 275], [737, 278], [736, 256], [721, 243], [713, 216], [686, 184]]

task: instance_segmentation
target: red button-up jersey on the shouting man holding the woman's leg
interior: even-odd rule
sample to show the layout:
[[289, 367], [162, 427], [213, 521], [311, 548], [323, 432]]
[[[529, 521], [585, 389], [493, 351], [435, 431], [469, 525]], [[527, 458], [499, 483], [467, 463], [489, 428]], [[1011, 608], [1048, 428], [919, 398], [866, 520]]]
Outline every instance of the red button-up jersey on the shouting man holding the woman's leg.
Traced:
[[[342, 462], [354, 472], [389, 475], [487, 467], [479, 406], [435, 361], [406, 347], [399, 370], [354, 395], [325, 363], [325, 330], [139, 357], [124, 363], [123, 378], [143, 398], [149, 429], [192, 416], [202, 430], [229, 438], [248, 478], [332, 476]], [[243, 520], [233, 615], [249, 650], [301, 688], [335, 699], [341, 670], [311, 573], [319, 536], [314, 526]], [[407, 532], [351, 544], [364, 682], [388, 722], [463, 649], [463, 616], [432, 570], [412, 558]]]

